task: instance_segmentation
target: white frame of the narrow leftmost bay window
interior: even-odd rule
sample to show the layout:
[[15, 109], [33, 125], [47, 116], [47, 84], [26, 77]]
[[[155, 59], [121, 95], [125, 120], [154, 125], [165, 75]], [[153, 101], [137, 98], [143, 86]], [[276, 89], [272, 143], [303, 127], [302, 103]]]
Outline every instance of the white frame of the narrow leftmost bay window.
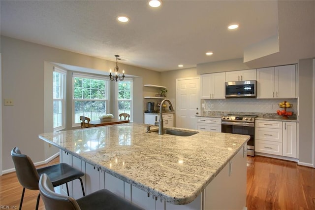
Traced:
[[[61, 91], [60, 91], [60, 95], [61, 95], [61, 99], [55, 99], [54, 98], [54, 94], [53, 94], [53, 130], [54, 132], [56, 131], [61, 131], [63, 129], [65, 129], [65, 117], [66, 117], [66, 108], [65, 108], [65, 103], [66, 103], [66, 76], [67, 76], [67, 71], [60, 69], [58, 67], [54, 67], [53, 70], [53, 74], [54, 72], [58, 72], [60, 73], [61, 76]], [[53, 75], [53, 90], [54, 90], [54, 75]], [[54, 92], [53, 92], [54, 93]], [[56, 128], [54, 128], [54, 102], [55, 101], [61, 101], [62, 102], [62, 125], [58, 126]]]

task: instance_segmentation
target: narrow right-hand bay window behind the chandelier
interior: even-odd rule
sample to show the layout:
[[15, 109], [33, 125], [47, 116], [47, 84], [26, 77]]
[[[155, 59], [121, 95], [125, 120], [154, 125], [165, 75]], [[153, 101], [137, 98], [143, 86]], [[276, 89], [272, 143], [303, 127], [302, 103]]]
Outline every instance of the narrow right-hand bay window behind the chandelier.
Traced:
[[117, 82], [117, 106], [119, 116], [120, 113], [130, 114], [132, 119], [132, 79], [124, 79], [124, 81]]

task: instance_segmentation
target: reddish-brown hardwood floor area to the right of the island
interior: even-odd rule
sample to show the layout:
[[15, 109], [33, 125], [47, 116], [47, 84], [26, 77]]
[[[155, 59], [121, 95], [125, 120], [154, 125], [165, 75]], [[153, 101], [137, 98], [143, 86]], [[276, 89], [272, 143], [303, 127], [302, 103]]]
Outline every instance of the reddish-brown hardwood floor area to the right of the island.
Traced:
[[315, 169], [261, 156], [247, 166], [248, 210], [315, 210]]

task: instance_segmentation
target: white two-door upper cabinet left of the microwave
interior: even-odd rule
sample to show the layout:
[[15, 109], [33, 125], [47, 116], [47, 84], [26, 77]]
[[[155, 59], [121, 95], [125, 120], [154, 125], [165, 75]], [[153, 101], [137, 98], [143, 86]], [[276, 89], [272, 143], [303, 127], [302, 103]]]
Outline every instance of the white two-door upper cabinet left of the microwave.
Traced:
[[225, 73], [208, 73], [201, 75], [201, 99], [225, 99]]

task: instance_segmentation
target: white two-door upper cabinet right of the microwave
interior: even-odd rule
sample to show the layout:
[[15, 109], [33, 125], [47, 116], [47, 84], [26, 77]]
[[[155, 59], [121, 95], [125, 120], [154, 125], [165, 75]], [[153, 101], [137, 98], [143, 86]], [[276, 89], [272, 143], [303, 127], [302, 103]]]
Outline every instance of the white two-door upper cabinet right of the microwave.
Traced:
[[296, 98], [296, 65], [257, 69], [258, 99]]

